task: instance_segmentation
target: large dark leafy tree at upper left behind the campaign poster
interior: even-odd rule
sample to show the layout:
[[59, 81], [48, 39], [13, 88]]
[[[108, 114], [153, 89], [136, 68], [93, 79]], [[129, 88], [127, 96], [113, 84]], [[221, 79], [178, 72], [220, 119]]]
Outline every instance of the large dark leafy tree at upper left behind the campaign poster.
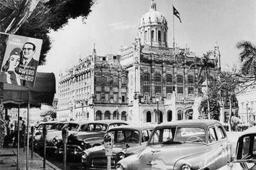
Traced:
[[[59, 30], [70, 18], [86, 19], [96, 0], [1, 0], [0, 31], [43, 39], [39, 64], [43, 65], [51, 48], [48, 33]], [[0, 39], [0, 52], [4, 49]], [[3, 55], [1, 55], [3, 56]], [[0, 60], [0, 66], [2, 60]], [[4, 121], [2, 105], [3, 84], [0, 83], [0, 122]], [[0, 126], [0, 139], [4, 139], [4, 127]], [[0, 141], [0, 148], [2, 141]]]

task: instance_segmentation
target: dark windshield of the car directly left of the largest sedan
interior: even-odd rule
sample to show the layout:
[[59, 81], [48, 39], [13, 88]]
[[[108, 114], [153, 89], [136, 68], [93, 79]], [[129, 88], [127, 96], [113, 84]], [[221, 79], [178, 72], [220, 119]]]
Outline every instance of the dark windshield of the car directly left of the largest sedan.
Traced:
[[117, 131], [110, 131], [110, 132], [114, 136], [114, 143], [139, 144], [139, 142], [140, 142], [140, 133], [139, 133], [139, 131], [117, 130]]

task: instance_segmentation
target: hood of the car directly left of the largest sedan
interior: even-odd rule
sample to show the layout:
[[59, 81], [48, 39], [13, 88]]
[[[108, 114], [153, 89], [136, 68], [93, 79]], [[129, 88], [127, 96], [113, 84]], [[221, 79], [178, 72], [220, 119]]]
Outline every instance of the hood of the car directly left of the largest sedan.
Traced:
[[[137, 147], [140, 144], [128, 144], [129, 148]], [[119, 152], [122, 150], [126, 149], [126, 144], [114, 144], [113, 145], [113, 155], [117, 155]], [[93, 147], [89, 148], [88, 152], [90, 152], [90, 155], [95, 156], [95, 155], [105, 155], [105, 147], [104, 145], [101, 145], [99, 147]]]

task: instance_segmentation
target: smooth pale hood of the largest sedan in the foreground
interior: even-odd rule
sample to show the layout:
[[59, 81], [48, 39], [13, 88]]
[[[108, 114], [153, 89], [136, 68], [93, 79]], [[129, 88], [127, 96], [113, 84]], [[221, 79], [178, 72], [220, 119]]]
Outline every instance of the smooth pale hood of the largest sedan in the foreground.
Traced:
[[138, 155], [139, 164], [147, 166], [151, 161], [158, 167], [173, 167], [176, 161], [187, 156], [207, 152], [204, 144], [160, 144], [149, 145]]

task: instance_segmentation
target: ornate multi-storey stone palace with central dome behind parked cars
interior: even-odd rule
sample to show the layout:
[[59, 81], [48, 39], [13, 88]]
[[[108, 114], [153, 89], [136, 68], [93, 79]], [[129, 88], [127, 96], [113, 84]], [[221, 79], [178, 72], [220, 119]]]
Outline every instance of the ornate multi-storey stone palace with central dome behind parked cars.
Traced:
[[[192, 67], [196, 55], [189, 47], [168, 47], [168, 23], [150, 2], [139, 20], [135, 42], [119, 55], [81, 59], [60, 75], [60, 119], [126, 119], [134, 123], [161, 123], [198, 118], [204, 74]], [[209, 75], [220, 71], [215, 46]]]

